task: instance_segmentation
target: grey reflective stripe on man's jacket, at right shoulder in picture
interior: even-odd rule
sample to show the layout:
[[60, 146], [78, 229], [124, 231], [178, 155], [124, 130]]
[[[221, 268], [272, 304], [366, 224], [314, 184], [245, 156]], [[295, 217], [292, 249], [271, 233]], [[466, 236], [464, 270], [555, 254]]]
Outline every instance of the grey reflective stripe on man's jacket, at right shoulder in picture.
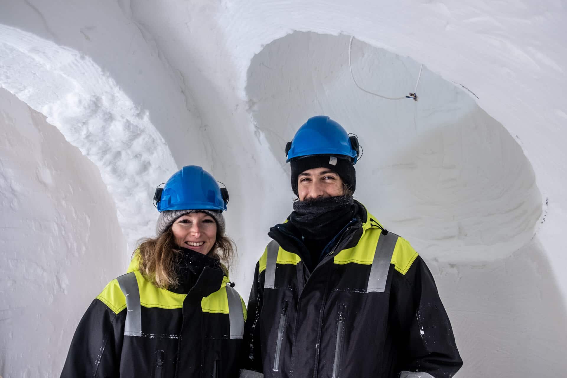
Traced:
[[396, 247], [397, 238], [398, 236], [391, 232], [388, 232], [386, 235], [380, 234], [376, 244], [376, 252], [374, 252], [372, 267], [370, 268], [366, 292], [384, 292], [386, 290], [388, 270], [390, 270], [390, 262], [392, 261], [393, 249]]

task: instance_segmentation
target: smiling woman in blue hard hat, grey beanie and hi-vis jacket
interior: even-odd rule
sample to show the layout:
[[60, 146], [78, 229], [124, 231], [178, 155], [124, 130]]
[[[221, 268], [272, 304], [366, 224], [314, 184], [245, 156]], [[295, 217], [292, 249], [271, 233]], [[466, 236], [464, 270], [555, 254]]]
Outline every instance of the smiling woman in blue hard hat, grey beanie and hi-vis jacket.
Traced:
[[157, 236], [92, 301], [62, 377], [233, 377], [246, 308], [227, 274], [229, 196], [201, 167], [156, 190]]

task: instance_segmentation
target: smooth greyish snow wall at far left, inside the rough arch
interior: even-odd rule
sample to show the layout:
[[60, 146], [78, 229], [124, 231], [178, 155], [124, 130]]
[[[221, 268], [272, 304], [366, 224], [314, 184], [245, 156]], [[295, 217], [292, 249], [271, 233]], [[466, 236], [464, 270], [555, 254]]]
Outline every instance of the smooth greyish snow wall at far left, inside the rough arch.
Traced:
[[1, 88], [0, 213], [0, 375], [58, 376], [126, 241], [99, 169]]

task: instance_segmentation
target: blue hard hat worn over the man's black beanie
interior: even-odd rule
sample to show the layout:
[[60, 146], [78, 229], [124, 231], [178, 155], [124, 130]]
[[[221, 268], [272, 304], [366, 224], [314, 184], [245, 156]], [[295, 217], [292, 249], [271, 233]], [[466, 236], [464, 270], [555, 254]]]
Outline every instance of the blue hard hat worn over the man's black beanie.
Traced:
[[287, 162], [312, 155], [337, 155], [358, 159], [358, 139], [349, 137], [345, 129], [327, 116], [311, 117], [305, 122], [291, 142], [287, 143]]

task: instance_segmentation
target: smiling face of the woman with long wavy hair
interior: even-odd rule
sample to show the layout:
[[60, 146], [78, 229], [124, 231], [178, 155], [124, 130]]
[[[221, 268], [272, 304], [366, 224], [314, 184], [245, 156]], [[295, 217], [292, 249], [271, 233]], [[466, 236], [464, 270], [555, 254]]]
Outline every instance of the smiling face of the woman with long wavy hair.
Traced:
[[208, 254], [217, 240], [217, 223], [205, 213], [190, 213], [180, 216], [171, 225], [175, 244]]

